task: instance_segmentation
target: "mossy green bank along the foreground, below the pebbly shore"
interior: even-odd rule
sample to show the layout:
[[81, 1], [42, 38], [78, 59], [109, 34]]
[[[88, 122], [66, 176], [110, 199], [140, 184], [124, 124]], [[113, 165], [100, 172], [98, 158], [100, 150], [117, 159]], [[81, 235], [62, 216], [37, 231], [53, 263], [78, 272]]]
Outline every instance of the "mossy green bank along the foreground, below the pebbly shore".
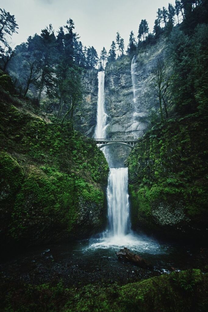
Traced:
[[2, 308], [10, 312], [205, 312], [207, 283], [208, 275], [195, 269], [105, 288], [87, 285], [72, 289], [59, 282], [24, 285], [21, 291], [11, 289], [5, 295], [6, 287], [2, 287], [1, 295], [5, 295]]

